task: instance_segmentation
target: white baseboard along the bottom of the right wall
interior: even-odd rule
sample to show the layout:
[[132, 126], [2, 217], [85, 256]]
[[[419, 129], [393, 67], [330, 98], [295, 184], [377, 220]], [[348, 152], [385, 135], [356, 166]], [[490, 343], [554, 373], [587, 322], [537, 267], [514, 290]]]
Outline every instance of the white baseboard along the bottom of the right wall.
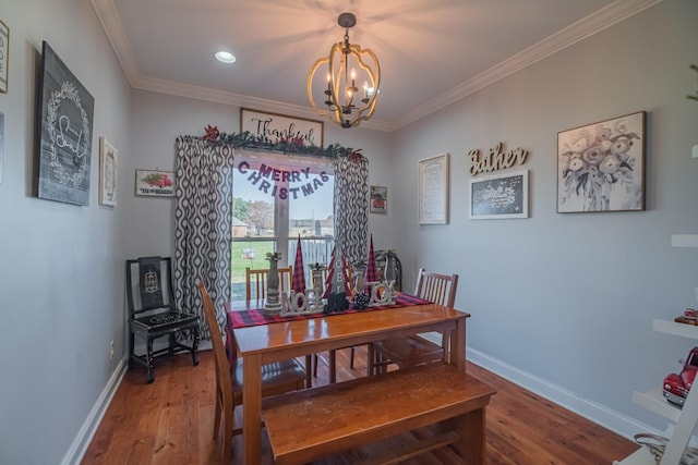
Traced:
[[[652, 432], [655, 435], [662, 433], [662, 431], [658, 431], [654, 428], [612, 411], [601, 404], [590, 401], [589, 399], [581, 397], [571, 391], [553, 384], [542, 378], [538, 378], [529, 372], [522, 371], [497, 358], [483, 354], [480, 351], [468, 347], [466, 354], [468, 360], [473, 364], [479, 365], [524, 389], [534, 392], [535, 394], [545, 397], [549, 401], [554, 402], [624, 438], [633, 440], [633, 437], [640, 431]], [[629, 396], [630, 394], [628, 393], [628, 397]]]

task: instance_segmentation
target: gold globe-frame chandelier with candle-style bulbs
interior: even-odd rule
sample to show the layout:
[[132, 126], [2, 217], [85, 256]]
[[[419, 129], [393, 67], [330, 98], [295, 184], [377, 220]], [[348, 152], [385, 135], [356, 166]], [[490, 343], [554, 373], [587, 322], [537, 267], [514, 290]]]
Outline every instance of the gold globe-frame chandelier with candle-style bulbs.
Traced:
[[[381, 65], [375, 53], [349, 44], [349, 28], [357, 24], [352, 13], [341, 13], [337, 24], [345, 28], [344, 41], [332, 46], [329, 56], [320, 58], [308, 75], [308, 98], [313, 110], [341, 127], [358, 126], [375, 111], [381, 84]], [[324, 66], [323, 66], [324, 65]], [[318, 70], [322, 71], [318, 73]], [[326, 73], [323, 71], [326, 70]], [[361, 83], [362, 87], [357, 87]], [[326, 87], [325, 87], [326, 85]], [[323, 88], [324, 107], [313, 98], [313, 87]]]

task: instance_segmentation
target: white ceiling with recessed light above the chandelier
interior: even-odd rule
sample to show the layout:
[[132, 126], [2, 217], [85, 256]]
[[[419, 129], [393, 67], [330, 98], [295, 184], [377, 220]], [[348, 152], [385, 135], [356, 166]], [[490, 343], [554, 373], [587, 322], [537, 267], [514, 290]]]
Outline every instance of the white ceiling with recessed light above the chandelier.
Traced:
[[[92, 0], [132, 87], [317, 118], [311, 65], [341, 40], [381, 62], [394, 131], [661, 0]], [[219, 49], [238, 61], [214, 60]]]

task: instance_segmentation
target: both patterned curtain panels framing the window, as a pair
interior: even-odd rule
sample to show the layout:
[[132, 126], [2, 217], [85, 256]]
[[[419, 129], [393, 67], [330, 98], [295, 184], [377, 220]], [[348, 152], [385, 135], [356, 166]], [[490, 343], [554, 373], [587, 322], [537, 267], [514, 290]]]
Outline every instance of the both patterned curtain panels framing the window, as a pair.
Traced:
[[[174, 205], [174, 301], [204, 319], [202, 281], [220, 310], [230, 299], [232, 179], [236, 145], [180, 136]], [[369, 229], [369, 160], [358, 151], [335, 156], [335, 242], [350, 264], [365, 261]], [[225, 327], [226, 315], [216, 318]], [[204, 325], [203, 340], [210, 339]]]

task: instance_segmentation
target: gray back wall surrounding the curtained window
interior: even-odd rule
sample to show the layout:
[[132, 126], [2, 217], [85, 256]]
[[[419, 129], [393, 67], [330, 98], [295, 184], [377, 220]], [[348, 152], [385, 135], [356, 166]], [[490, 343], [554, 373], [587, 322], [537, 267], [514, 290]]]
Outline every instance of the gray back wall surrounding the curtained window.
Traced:
[[[127, 249], [134, 256], [158, 249], [166, 253], [173, 242], [173, 207], [174, 200], [164, 198], [134, 197], [132, 184], [135, 169], [163, 170], [174, 169], [174, 139], [180, 135], [203, 135], [208, 124], [218, 126], [221, 132], [240, 131], [240, 109], [226, 105], [216, 105], [189, 98], [174, 97], [149, 91], [133, 91], [133, 119], [131, 121], [131, 139], [136, 147], [134, 157], [123, 167], [127, 172], [125, 203], [133, 228], [127, 238]], [[340, 144], [345, 147], [361, 148], [370, 160], [370, 183], [378, 184], [388, 181], [389, 135], [368, 131], [361, 127], [351, 131], [325, 124], [325, 146]], [[156, 134], [157, 136], [154, 136]], [[382, 234], [389, 224], [386, 216], [373, 215], [370, 228], [376, 236], [384, 237], [383, 244], [374, 246], [387, 247], [389, 237]], [[154, 232], [157, 231], [157, 234]], [[163, 241], [168, 237], [168, 241]]]

